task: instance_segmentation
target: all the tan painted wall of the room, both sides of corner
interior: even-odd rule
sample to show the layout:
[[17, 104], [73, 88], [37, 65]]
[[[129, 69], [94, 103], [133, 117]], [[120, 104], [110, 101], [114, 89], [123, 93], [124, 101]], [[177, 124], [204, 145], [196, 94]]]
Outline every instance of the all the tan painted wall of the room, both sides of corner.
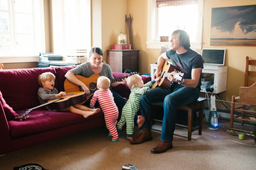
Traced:
[[[149, 73], [150, 64], [157, 61], [160, 49], [147, 49], [147, 0], [97, 0], [101, 3], [101, 48], [104, 52], [103, 59], [106, 61], [106, 50], [111, 49], [111, 44], [116, 43], [119, 30], [123, 29], [128, 35], [128, 27], [125, 23], [125, 14], [131, 14], [132, 35], [134, 49], [140, 50], [140, 72]], [[227, 91], [221, 95], [228, 101], [232, 95], [239, 95], [239, 87], [244, 84], [245, 57], [256, 59], [256, 47], [250, 46], [210, 46], [211, 8], [225, 6], [243, 6], [256, 4], [256, 0], [204, 0], [204, 28], [203, 48], [227, 49], [225, 65], [228, 66]], [[96, 22], [93, 21], [92, 23]], [[101, 24], [101, 25], [100, 25]], [[92, 29], [93, 32], [94, 29]], [[96, 30], [96, 29], [95, 29]], [[129, 37], [129, 36], [128, 36]], [[92, 42], [94, 44], [96, 42]], [[129, 41], [128, 41], [129, 43]], [[47, 44], [47, 48], [51, 48]], [[27, 66], [27, 67], [26, 67]], [[32, 68], [35, 63], [9, 63], [5, 69]]]

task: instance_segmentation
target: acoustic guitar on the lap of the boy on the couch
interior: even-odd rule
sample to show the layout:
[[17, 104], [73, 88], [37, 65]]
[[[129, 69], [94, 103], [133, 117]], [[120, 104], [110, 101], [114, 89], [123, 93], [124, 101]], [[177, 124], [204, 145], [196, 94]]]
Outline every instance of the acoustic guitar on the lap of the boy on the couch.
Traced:
[[64, 97], [52, 99], [45, 104], [41, 104], [31, 109], [26, 109], [25, 111], [21, 112], [20, 115], [16, 115], [14, 119], [18, 119], [22, 121], [23, 119], [29, 118], [29, 113], [32, 110], [37, 109], [39, 107], [49, 105], [49, 109], [60, 110], [60, 109], [65, 109], [67, 107], [73, 106], [74, 104], [79, 104], [83, 102], [85, 99], [86, 99], [85, 92], [67, 92], [67, 95]]

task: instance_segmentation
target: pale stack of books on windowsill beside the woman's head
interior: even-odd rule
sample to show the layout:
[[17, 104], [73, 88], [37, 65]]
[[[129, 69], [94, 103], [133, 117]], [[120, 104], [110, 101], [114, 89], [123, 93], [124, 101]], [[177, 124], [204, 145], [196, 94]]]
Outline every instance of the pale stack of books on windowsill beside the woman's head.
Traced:
[[87, 50], [86, 49], [77, 49], [77, 50], [68, 50], [67, 57], [65, 61], [68, 63], [81, 64], [87, 62]]

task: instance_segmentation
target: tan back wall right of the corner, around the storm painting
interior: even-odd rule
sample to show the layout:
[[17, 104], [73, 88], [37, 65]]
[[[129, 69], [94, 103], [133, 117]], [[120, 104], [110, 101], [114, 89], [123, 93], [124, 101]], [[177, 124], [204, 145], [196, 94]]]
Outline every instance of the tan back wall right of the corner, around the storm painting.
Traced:
[[[244, 85], [245, 57], [256, 60], [256, 47], [251, 46], [210, 46], [211, 9], [226, 6], [256, 4], [256, 0], [204, 0], [203, 48], [227, 49], [225, 65], [228, 66], [227, 91], [221, 95], [231, 101], [232, 95], [239, 95]], [[128, 0], [128, 13], [133, 15], [132, 29], [134, 49], [140, 50], [140, 72], [150, 72], [150, 64], [157, 61], [160, 49], [147, 49], [147, 0]]]

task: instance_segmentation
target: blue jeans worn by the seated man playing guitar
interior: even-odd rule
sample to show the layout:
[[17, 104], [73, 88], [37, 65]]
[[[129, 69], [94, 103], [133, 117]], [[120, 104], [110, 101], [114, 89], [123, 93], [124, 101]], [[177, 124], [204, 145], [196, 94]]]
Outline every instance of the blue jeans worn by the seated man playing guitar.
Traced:
[[177, 84], [175, 87], [149, 89], [140, 96], [140, 113], [145, 118], [143, 129], [151, 130], [151, 103], [163, 102], [161, 141], [172, 141], [177, 118], [177, 108], [197, 101], [200, 90]]

